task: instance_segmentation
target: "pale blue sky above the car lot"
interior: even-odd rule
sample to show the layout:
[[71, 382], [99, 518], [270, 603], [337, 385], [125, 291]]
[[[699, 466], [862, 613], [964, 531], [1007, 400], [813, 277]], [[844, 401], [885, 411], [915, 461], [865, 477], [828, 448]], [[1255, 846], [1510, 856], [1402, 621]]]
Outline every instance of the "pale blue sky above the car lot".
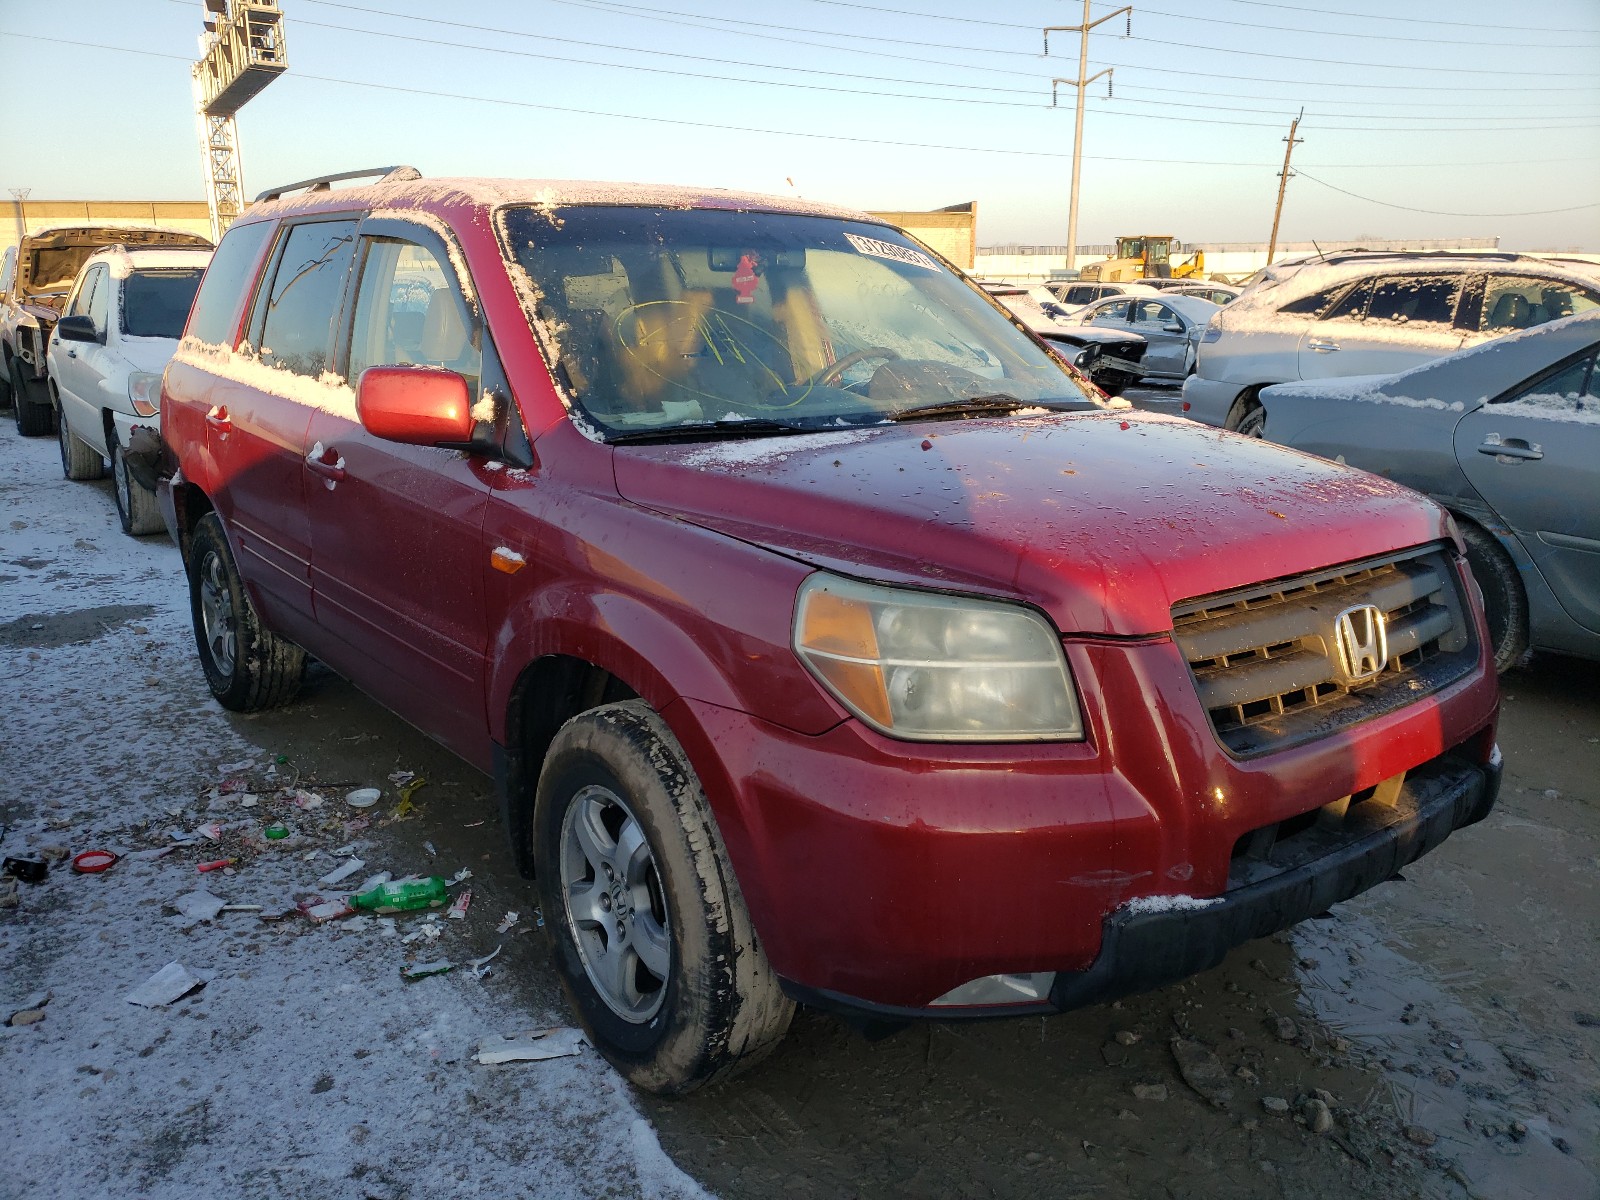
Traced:
[[[248, 195], [411, 163], [880, 210], [978, 200], [984, 245], [1066, 240], [1074, 90], [1051, 109], [1051, 78], [1075, 75], [1078, 37], [1051, 34], [1045, 58], [1042, 27], [1078, 22], [1075, 0], [282, 8], [290, 70], [238, 118]], [[203, 198], [200, 14], [0, 0], [0, 202]], [[1131, 29], [1117, 16], [1090, 40], [1090, 74], [1115, 74], [1110, 99], [1107, 80], [1088, 88], [1083, 243], [1266, 240], [1304, 106], [1283, 240], [1600, 251], [1597, 0], [1155, 0]]]

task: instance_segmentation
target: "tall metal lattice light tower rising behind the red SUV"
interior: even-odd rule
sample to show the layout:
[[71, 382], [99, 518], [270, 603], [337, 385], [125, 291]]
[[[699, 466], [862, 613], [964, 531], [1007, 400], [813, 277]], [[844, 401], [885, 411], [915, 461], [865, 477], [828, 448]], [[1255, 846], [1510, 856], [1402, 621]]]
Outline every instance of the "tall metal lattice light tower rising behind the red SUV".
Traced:
[[205, 0], [205, 34], [194, 66], [195, 117], [205, 163], [205, 198], [211, 208], [211, 240], [245, 206], [238, 162], [238, 123], [245, 101], [288, 70], [283, 13], [277, 0]]

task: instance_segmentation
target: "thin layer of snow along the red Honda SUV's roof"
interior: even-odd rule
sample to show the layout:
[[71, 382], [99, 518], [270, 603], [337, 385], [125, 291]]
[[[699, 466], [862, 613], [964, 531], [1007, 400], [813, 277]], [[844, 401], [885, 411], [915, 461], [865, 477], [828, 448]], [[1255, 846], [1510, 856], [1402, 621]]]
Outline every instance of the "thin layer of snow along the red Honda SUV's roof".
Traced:
[[798, 197], [734, 192], [720, 187], [685, 187], [678, 184], [630, 184], [582, 179], [478, 179], [445, 178], [413, 179], [392, 184], [341, 187], [328, 192], [296, 192], [280, 200], [267, 200], [245, 210], [250, 218], [280, 216], [315, 208], [414, 208], [432, 205], [466, 205], [499, 208], [504, 205], [629, 205], [640, 208], [726, 208], [733, 211], [795, 213], [832, 216], [845, 221], [883, 224], [854, 208], [827, 205]]

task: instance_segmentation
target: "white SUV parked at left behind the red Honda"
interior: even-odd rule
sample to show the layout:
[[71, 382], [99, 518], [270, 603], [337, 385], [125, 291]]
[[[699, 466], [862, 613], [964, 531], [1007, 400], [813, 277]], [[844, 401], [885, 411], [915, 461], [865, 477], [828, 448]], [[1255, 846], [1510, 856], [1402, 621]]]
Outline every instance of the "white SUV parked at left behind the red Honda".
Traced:
[[160, 432], [162, 371], [178, 350], [210, 250], [109, 246], [78, 272], [50, 336], [50, 403], [67, 478], [99, 478], [110, 459], [123, 533], [163, 530], [155, 493], [128, 474], [139, 427]]

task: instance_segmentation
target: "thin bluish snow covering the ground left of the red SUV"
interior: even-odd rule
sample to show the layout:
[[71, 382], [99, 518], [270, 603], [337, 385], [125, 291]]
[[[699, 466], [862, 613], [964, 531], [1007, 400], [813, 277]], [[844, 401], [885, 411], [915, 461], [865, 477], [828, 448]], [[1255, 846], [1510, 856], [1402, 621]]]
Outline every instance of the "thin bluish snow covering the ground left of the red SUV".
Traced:
[[[5, 421], [0, 498], [0, 853], [138, 851], [168, 830], [243, 824], [210, 850], [101, 875], [59, 864], [0, 909], [0, 1194], [704, 1195], [592, 1050], [472, 1062], [480, 1037], [562, 1013], [526, 1011], [493, 971], [402, 981], [410, 960], [493, 949], [499, 914], [403, 944], [376, 923], [168, 912], [197, 886], [269, 910], [328, 893], [315, 882], [346, 842], [366, 859], [355, 883], [386, 867], [382, 818], [363, 830], [339, 795], [314, 811], [272, 798], [274, 755], [206, 691], [176, 549], [125, 538], [107, 485], [66, 482], [53, 438], [22, 440]], [[224, 765], [259, 805], [211, 797]], [[277, 816], [296, 822], [294, 845], [246, 850], [232, 875], [195, 870]], [[398, 933], [421, 922], [402, 915]], [[126, 1002], [170, 962], [216, 974], [166, 1008]], [[42, 990], [42, 1021], [3, 1024]]]

